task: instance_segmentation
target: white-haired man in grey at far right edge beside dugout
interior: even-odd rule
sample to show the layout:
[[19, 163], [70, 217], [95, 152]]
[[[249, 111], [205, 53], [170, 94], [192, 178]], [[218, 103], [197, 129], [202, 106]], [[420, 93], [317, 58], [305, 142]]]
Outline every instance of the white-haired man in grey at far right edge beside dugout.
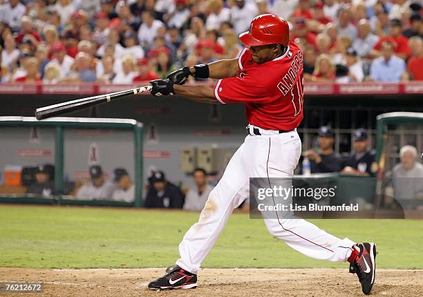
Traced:
[[417, 161], [417, 149], [403, 146], [400, 150], [401, 162], [392, 169], [395, 200], [423, 198], [423, 165]]

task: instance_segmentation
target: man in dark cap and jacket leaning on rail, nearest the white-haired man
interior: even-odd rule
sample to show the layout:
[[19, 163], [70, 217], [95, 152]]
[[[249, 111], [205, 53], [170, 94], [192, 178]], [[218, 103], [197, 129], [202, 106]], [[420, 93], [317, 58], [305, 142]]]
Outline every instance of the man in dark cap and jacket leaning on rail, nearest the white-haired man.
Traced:
[[374, 176], [377, 172], [375, 153], [368, 150], [368, 135], [364, 128], [353, 133], [354, 152], [342, 164], [341, 173], [359, 176]]

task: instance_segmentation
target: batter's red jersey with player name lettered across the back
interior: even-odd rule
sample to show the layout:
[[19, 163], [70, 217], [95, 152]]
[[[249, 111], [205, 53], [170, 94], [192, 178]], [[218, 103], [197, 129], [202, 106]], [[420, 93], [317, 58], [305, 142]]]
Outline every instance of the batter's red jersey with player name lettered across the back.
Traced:
[[214, 97], [223, 104], [244, 103], [249, 124], [290, 131], [303, 119], [303, 53], [290, 41], [281, 57], [263, 64], [246, 48], [238, 58], [236, 77], [219, 79]]

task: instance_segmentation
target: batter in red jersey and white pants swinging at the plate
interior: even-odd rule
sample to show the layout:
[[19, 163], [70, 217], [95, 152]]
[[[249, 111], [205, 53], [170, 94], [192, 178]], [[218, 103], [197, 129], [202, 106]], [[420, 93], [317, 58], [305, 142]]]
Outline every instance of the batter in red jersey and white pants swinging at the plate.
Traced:
[[[253, 19], [239, 35], [247, 46], [238, 59], [184, 67], [151, 81], [151, 93], [195, 102], [245, 104], [249, 125], [200, 218], [179, 245], [180, 258], [149, 289], [197, 287], [197, 273], [232, 210], [249, 195], [249, 178], [291, 178], [301, 155], [297, 126], [303, 119], [303, 53], [289, 40], [288, 23], [272, 14]], [[189, 76], [218, 79], [216, 86], [182, 86]], [[277, 213], [276, 213], [277, 216]], [[369, 294], [375, 280], [376, 246], [340, 239], [301, 219], [264, 219], [272, 236], [312, 258], [350, 262], [350, 272]]]

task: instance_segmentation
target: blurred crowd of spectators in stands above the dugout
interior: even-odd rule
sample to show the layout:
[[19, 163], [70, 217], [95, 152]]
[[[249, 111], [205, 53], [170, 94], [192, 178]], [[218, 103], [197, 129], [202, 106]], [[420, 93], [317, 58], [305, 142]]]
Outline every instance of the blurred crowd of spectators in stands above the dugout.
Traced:
[[306, 81], [423, 79], [418, 0], [0, 0], [1, 82], [131, 84], [238, 56], [263, 13], [290, 23]]

